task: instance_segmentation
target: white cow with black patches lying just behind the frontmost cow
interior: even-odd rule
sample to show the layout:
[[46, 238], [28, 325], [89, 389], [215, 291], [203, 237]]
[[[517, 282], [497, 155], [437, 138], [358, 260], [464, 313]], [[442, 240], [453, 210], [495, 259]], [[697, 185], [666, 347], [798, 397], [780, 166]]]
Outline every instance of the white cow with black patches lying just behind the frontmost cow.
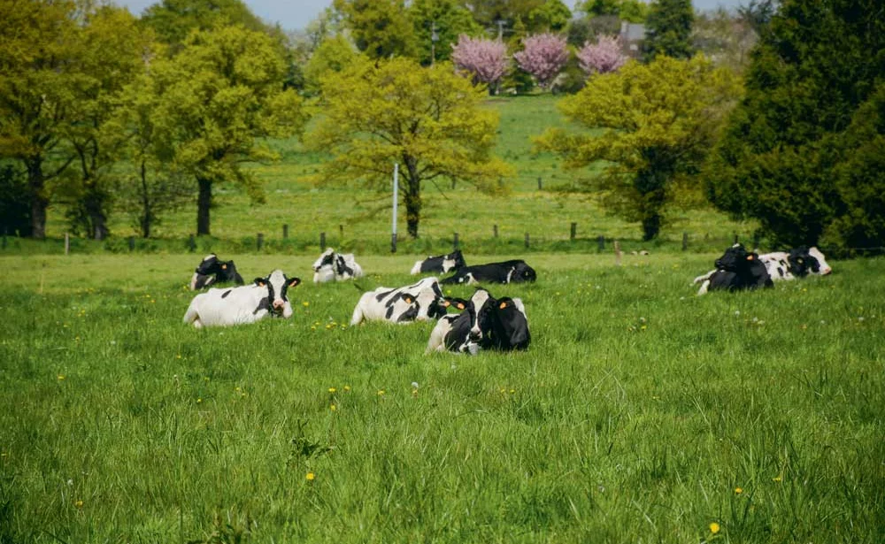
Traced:
[[442, 298], [436, 278], [425, 278], [406, 287], [378, 287], [359, 297], [350, 325], [359, 325], [364, 320], [411, 323], [439, 318], [445, 315]]

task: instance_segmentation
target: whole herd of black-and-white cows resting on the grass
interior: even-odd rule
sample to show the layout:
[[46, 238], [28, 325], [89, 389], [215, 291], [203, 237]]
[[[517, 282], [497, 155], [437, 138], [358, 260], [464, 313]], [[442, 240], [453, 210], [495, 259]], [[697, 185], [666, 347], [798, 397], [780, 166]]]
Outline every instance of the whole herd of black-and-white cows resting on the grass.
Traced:
[[[716, 268], [695, 278], [698, 295], [711, 290], [743, 290], [772, 287], [774, 281], [795, 280], [808, 274], [832, 272], [817, 248], [801, 247], [788, 252], [758, 255], [741, 244], [726, 249], [716, 260]], [[436, 320], [426, 353], [452, 351], [475, 355], [481, 349], [510, 351], [527, 349], [531, 342], [525, 305], [519, 298], [496, 298], [477, 287], [469, 299], [443, 295], [441, 285], [476, 283], [534, 282], [537, 274], [521, 259], [468, 266], [461, 251], [427, 257], [412, 267], [412, 275], [449, 273], [443, 280], [428, 277], [405, 287], [378, 287], [359, 297], [350, 325], [363, 321], [412, 323]], [[363, 276], [353, 254], [327, 249], [313, 264], [313, 282], [355, 280]], [[301, 280], [274, 270], [264, 278], [243, 285], [234, 261], [222, 261], [212, 254], [196, 267], [190, 281], [192, 290], [234, 283], [239, 287], [211, 288], [196, 295], [184, 315], [184, 322], [203, 326], [229, 326], [253, 323], [267, 316], [289, 318], [292, 306], [289, 287]], [[449, 310], [459, 310], [449, 313]]]

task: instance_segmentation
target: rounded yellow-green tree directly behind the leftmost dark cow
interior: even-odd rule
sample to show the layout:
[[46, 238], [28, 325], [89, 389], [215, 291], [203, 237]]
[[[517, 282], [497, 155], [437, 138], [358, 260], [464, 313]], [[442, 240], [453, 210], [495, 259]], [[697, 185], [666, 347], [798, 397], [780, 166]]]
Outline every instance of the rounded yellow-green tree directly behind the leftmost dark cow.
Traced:
[[283, 89], [285, 68], [269, 36], [242, 27], [190, 34], [176, 57], [151, 65], [144, 92], [156, 96], [152, 122], [167, 146], [160, 155], [196, 180], [196, 234], [211, 234], [215, 184], [237, 182], [260, 202], [242, 164], [276, 159], [264, 139], [304, 126], [301, 99]]

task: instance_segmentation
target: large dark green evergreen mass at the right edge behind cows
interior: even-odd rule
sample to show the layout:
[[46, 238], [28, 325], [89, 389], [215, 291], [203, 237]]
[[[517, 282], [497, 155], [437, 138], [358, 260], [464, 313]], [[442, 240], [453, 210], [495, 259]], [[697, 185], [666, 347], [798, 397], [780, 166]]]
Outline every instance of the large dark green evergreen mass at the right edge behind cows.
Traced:
[[[850, 234], [850, 225], [861, 225], [866, 211], [879, 213], [875, 199], [866, 211], [861, 201], [880, 184], [870, 175], [878, 140], [867, 124], [875, 122], [878, 99], [862, 105], [885, 74], [881, 55], [871, 54], [885, 50], [880, 7], [873, 0], [781, 5], [760, 36], [747, 95], [708, 169], [709, 194], [721, 210], [758, 218], [784, 245], [816, 243], [834, 221], [834, 241], [866, 238]], [[846, 192], [851, 183], [858, 186]], [[861, 230], [874, 233], [876, 221]]]

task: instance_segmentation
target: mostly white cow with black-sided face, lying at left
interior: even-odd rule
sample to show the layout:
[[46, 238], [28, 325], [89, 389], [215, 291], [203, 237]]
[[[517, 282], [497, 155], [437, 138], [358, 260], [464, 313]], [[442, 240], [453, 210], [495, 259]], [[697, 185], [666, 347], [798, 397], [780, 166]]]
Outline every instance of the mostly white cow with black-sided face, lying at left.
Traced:
[[184, 323], [196, 328], [254, 323], [267, 316], [290, 318], [292, 305], [287, 291], [301, 283], [274, 270], [251, 285], [213, 288], [196, 295], [184, 314]]

